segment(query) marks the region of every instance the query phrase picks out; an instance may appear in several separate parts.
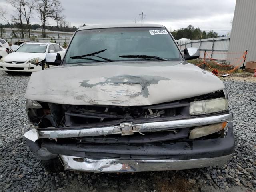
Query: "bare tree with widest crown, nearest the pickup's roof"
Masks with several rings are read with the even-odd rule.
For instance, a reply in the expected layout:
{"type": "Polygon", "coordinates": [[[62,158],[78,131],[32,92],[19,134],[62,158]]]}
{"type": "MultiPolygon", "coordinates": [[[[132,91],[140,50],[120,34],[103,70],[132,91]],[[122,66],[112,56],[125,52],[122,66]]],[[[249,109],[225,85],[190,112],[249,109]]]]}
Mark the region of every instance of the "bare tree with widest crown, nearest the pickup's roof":
{"type": "Polygon", "coordinates": [[[57,21],[62,20],[63,16],[61,16],[61,12],[63,8],[59,0],[41,0],[37,5],[36,10],[39,13],[39,18],[42,23],[42,36],[43,38],[46,38],[46,21],[49,18],[53,18],[57,21]]]}

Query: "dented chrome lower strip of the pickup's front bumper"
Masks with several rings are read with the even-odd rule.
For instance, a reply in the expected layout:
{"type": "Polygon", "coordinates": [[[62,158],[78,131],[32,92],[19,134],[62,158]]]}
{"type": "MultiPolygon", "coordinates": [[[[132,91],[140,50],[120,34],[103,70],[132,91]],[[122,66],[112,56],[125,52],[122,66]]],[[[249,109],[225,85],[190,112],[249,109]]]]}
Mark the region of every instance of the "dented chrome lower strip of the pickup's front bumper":
{"type": "Polygon", "coordinates": [[[140,172],[166,171],[223,166],[232,154],[214,158],[189,160],[158,160],[158,159],[90,159],[60,155],[65,170],[85,172],[140,172]]]}

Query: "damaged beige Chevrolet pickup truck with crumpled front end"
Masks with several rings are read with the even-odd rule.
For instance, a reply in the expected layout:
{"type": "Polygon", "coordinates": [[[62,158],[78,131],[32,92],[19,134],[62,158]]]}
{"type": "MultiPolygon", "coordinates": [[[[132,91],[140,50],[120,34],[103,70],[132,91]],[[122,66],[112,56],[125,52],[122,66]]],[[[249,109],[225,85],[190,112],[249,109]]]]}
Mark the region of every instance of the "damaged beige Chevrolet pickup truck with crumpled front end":
{"type": "MultiPolygon", "coordinates": [[[[161,25],[79,28],[26,90],[24,134],[50,171],[138,172],[226,164],[233,114],[214,74],[161,25]]],[[[40,61],[38,61],[40,62],[40,61]]],[[[38,63],[34,63],[38,64],[38,63]]]]}

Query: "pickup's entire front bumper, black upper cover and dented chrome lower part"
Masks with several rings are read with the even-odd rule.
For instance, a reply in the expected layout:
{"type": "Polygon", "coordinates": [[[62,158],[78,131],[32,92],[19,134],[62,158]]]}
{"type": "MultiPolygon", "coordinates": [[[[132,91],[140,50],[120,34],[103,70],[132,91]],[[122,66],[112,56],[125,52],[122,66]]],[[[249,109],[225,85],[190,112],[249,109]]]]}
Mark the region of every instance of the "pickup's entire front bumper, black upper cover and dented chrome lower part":
{"type": "Polygon", "coordinates": [[[66,170],[85,172],[163,171],[222,166],[234,152],[232,122],[224,138],[159,144],[74,144],[54,140],[33,142],[37,131],[24,136],[39,160],[60,157],[66,170]],[[165,156],[165,157],[163,157],[165,156]]]}

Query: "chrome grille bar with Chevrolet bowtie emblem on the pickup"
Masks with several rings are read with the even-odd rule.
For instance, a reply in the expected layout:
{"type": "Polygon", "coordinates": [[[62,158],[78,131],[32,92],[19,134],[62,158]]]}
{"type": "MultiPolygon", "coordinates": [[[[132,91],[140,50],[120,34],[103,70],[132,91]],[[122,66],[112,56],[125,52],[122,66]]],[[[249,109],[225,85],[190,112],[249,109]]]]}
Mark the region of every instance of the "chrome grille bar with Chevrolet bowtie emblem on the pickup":
{"type": "Polygon", "coordinates": [[[44,130],[38,131],[38,135],[34,134],[34,140],[38,138],[71,138],[71,137],[100,136],[100,135],[111,135],[111,134],[127,135],[127,134],[133,134],[134,132],[152,132],[152,131],[172,130],[172,129],[186,128],[186,127],[204,126],[209,124],[230,121],[232,118],[233,118],[233,114],[229,113],[224,115],[195,117],[195,118],[188,118],[188,119],[182,119],[182,120],[150,122],[150,123],[143,123],[143,124],[132,124],[132,123],[122,124],[121,123],[120,126],[108,126],[108,127],[95,127],[95,128],[66,127],[66,128],[59,128],[59,129],[54,127],[49,127],[44,130]]]}

